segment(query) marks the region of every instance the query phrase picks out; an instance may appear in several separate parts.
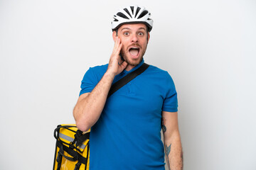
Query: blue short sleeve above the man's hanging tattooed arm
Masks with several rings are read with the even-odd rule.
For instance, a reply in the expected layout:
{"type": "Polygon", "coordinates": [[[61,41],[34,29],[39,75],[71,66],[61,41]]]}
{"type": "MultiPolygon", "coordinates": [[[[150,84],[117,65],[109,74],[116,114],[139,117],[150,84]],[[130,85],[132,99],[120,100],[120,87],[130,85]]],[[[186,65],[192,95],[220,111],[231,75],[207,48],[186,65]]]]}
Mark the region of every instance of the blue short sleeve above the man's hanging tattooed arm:
{"type": "Polygon", "coordinates": [[[166,74],[166,97],[164,98],[164,104],[162,111],[176,112],[178,111],[178,98],[175,89],[174,81],[171,76],[166,74]]]}

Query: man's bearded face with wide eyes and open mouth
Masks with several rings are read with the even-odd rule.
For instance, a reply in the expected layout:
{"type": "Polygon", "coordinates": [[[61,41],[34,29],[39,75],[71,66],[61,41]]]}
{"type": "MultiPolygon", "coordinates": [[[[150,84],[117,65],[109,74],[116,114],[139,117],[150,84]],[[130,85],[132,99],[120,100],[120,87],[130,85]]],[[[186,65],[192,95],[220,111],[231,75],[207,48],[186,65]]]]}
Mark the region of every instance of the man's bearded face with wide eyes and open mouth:
{"type": "Polygon", "coordinates": [[[131,66],[142,62],[146,46],[149,40],[149,33],[143,23],[125,24],[118,29],[117,36],[122,43],[121,55],[131,66]]]}

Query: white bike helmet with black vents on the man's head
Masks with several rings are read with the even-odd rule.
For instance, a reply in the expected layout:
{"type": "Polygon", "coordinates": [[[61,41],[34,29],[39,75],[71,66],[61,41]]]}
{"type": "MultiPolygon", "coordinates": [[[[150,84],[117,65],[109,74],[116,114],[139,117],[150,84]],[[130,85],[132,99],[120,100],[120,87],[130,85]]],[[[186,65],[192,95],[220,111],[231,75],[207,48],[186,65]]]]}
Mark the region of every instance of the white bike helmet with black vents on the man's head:
{"type": "Polygon", "coordinates": [[[144,7],[127,6],[114,14],[114,21],[111,22],[112,30],[116,30],[123,24],[144,23],[150,32],[153,27],[153,20],[149,18],[151,13],[144,7]]]}

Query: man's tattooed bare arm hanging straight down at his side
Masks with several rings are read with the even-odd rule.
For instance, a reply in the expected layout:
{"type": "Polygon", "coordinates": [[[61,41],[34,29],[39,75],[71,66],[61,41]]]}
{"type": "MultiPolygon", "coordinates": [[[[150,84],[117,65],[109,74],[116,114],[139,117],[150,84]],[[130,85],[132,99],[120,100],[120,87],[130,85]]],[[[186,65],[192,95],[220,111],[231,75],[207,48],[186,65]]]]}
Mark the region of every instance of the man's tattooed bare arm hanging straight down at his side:
{"type": "Polygon", "coordinates": [[[183,169],[183,152],[178,132],[178,113],[163,111],[162,128],[167,165],[171,170],[181,170],[183,169]]]}

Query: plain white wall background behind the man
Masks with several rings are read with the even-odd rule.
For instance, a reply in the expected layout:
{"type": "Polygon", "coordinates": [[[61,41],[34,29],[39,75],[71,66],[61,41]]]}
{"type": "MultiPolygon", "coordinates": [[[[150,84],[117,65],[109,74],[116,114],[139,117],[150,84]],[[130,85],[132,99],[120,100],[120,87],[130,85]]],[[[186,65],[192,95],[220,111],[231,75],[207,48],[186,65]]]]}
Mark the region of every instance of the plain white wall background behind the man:
{"type": "MultiPolygon", "coordinates": [[[[154,19],[145,62],[178,91],[184,169],[256,169],[256,2],[132,1],[154,19]]],[[[127,3],[0,1],[0,169],[52,169],[60,123],[89,67],[106,64],[127,3]]]]}

